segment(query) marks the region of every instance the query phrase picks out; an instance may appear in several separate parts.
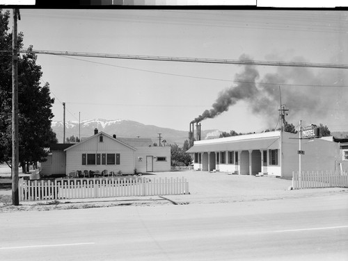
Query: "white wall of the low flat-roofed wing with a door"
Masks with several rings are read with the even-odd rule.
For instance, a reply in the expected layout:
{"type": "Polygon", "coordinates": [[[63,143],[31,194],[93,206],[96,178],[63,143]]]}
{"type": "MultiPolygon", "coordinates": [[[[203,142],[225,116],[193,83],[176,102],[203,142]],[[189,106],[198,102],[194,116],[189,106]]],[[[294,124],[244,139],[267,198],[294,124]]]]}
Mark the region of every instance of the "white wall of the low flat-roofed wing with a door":
{"type": "Polygon", "coordinates": [[[170,146],[141,146],[136,147],[135,167],[138,172],[146,171],[146,156],[166,157],[166,161],[157,161],[154,158],[153,171],[171,171],[171,147],[170,146]]]}

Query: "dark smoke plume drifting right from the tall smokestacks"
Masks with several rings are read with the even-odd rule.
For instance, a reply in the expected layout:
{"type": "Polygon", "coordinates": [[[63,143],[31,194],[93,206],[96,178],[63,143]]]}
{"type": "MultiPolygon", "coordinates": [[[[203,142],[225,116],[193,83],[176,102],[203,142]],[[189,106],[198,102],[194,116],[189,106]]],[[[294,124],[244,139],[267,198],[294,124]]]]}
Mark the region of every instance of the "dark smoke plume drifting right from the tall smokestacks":
{"type": "MultiPolygon", "coordinates": [[[[242,55],[240,60],[252,60],[242,55]]],[[[277,60],[282,60],[278,57],[277,60]]],[[[308,62],[301,57],[295,57],[292,62],[308,62]]],[[[337,69],[336,69],[337,70],[337,69]]],[[[219,93],[218,98],[210,110],[205,110],[191,122],[214,118],[226,112],[238,101],[246,101],[249,109],[255,115],[262,115],[269,126],[278,120],[280,107],[281,87],[282,104],[289,108],[289,119],[298,121],[322,120],[333,117],[332,110],[326,109],[329,105],[347,106],[347,92],[342,97],[342,87],[322,87],[335,85],[345,78],[332,69],[315,69],[306,67],[277,67],[275,73],[264,74],[260,79],[258,69],[253,65],[243,65],[241,73],[235,75],[235,84],[219,93]],[[335,74],[336,72],[336,74],[335,74]],[[333,89],[335,92],[333,92],[333,89]],[[340,102],[342,100],[342,102],[340,102]]],[[[340,83],[342,85],[342,82],[340,83]]],[[[341,108],[342,109],[342,108],[341,108]]],[[[346,109],[346,108],[345,108],[346,109]]],[[[315,123],[315,122],[313,122],[315,123]]]]}

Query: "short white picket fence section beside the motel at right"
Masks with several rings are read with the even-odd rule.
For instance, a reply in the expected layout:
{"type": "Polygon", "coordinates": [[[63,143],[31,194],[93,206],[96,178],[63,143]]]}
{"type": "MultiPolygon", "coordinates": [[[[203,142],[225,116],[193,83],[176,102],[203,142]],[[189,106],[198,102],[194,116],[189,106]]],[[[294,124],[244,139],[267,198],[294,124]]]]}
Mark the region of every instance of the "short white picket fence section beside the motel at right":
{"type": "Polygon", "coordinates": [[[348,187],[347,172],[332,173],[331,171],[299,171],[292,172],[292,188],[294,190],[315,187],[348,187]]]}

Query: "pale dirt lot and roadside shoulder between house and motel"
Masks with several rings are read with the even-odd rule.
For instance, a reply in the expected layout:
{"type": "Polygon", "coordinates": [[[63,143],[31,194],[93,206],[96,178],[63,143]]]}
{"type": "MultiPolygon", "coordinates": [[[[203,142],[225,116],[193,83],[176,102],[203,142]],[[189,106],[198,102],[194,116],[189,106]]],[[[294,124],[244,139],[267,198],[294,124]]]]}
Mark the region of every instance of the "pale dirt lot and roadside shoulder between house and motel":
{"type": "MultiPolygon", "coordinates": [[[[152,176],[152,175],[151,175],[152,176]]],[[[151,177],[149,176],[149,177],[151,177]]],[[[237,176],[223,172],[172,171],[155,173],[152,177],[184,177],[189,181],[188,195],[132,196],[107,199],[74,199],[64,201],[23,202],[11,205],[10,187],[0,180],[0,212],[26,210],[61,210],[102,208],[120,205],[155,206],[163,204],[231,203],[238,201],[266,201],[347,193],[347,188],[289,190],[291,180],[273,177],[237,176]]],[[[10,181],[10,180],[8,180],[10,181]]]]}

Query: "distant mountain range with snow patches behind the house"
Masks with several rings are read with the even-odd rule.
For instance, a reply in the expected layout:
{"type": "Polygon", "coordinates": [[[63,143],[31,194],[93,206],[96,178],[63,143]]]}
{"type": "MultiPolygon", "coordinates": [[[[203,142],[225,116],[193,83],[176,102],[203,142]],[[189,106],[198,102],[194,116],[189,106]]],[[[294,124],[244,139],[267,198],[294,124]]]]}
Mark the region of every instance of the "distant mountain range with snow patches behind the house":
{"type": "MultiPolygon", "coordinates": [[[[161,141],[166,140],[167,144],[177,144],[182,146],[185,140],[189,140],[189,130],[174,130],[172,128],[161,128],[154,125],[145,125],[137,121],[127,119],[88,119],[81,121],[65,122],[65,139],[67,137],[79,137],[81,140],[94,135],[94,130],[103,131],[109,135],[116,137],[147,137],[152,142],[159,143],[159,133],[161,133],[161,141]]],[[[63,142],[63,121],[52,121],[52,129],[56,133],[58,142],[63,142]]],[[[202,130],[201,137],[203,140],[219,137],[220,130],[202,130]]]]}

